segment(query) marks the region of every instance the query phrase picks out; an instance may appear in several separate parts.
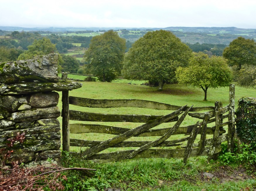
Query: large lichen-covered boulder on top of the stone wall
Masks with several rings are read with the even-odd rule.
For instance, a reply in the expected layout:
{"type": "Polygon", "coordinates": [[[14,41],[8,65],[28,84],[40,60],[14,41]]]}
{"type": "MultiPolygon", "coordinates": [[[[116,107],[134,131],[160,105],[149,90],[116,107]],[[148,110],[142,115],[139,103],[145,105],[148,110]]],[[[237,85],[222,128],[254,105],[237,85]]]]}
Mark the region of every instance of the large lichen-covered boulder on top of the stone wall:
{"type": "Polygon", "coordinates": [[[57,82],[58,58],[59,55],[57,53],[52,53],[36,56],[29,60],[4,62],[0,65],[0,82],[4,84],[34,80],[57,82]]]}

